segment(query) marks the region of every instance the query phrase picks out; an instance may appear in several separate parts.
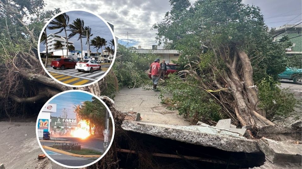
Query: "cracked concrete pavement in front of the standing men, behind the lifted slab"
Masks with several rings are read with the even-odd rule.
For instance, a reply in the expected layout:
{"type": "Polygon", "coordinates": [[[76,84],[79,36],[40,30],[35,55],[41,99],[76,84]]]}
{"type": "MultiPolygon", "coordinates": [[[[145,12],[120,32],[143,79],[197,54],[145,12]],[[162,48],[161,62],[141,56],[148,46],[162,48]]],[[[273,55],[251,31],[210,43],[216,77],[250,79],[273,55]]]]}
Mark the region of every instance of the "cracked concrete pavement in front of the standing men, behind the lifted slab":
{"type": "Polygon", "coordinates": [[[189,121],[160,103],[159,92],[144,90],[143,87],[124,87],[115,94],[115,109],[121,112],[134,111],[141,114],[143,122],[189,125],[189,121]]]}

